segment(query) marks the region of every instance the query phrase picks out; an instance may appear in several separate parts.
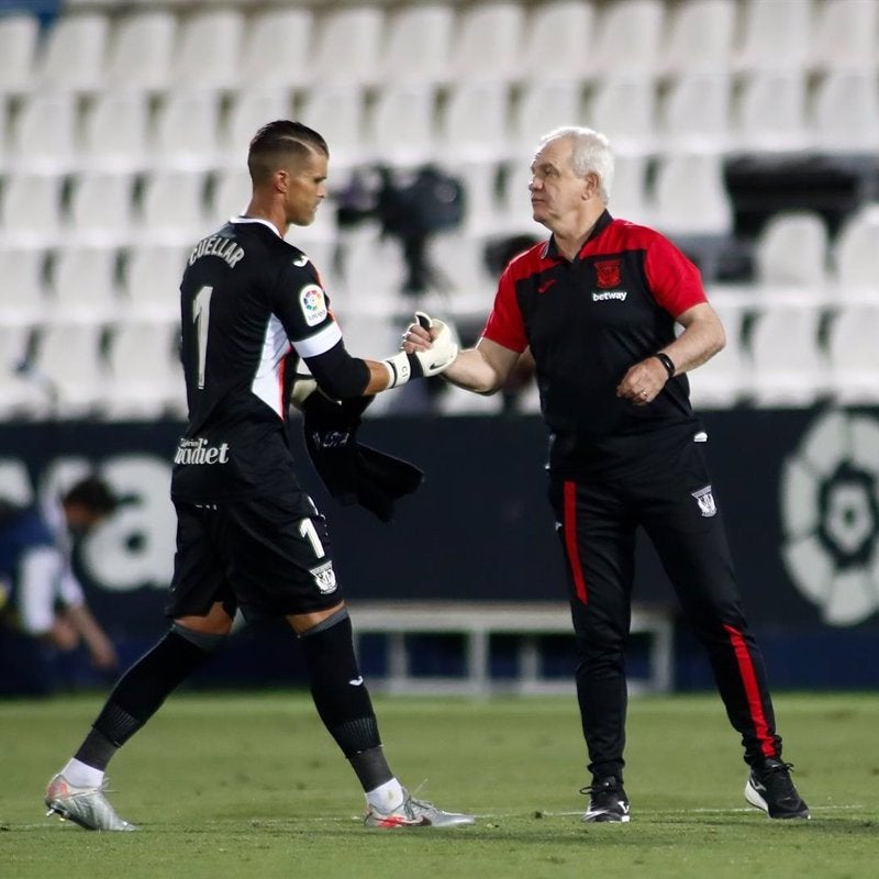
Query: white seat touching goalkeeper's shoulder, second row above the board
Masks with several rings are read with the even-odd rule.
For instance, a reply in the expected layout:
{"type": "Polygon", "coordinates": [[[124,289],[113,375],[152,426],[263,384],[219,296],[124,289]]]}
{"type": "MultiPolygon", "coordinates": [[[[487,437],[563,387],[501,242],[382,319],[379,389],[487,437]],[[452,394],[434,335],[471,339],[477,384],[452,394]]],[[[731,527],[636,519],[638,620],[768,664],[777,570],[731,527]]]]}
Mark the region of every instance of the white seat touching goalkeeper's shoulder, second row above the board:
{"type": "Polygon", "coordinates": [[[126,253],[122,268],[123,313],[133,321],[180,319],[180,278],[192,245],[141,244],[126,253]]]}

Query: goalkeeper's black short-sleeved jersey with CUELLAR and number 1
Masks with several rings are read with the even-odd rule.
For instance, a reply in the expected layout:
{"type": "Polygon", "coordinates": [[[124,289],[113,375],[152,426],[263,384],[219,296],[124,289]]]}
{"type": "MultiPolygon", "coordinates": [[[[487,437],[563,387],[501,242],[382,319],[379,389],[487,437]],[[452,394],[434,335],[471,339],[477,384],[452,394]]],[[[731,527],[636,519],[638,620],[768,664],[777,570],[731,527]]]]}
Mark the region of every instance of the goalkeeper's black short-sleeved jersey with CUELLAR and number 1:
{"type": "Polygon", "coordinates": [[[171,496],[299,489],[287,434],[296,366],[342,340],[318,270],[267,221],[233,218],[192,249],[180,311],[189,423],[171,496]]]}

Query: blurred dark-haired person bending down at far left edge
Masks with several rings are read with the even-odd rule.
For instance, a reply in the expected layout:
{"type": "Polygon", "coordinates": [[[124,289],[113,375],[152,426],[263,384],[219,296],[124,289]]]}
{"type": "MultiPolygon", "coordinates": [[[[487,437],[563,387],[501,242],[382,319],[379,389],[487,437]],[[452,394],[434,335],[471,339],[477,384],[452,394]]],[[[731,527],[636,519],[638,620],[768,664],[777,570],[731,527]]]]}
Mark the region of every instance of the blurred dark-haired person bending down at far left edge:
{"type": "Polygon", "coordinates": [[[96,476],[43,505],[0,500],[0,692],[52,692],[80,643],[96,669],[116,668],[113,644],[73,568],[75,541],[115,507],[112,491],[96,476]]]}

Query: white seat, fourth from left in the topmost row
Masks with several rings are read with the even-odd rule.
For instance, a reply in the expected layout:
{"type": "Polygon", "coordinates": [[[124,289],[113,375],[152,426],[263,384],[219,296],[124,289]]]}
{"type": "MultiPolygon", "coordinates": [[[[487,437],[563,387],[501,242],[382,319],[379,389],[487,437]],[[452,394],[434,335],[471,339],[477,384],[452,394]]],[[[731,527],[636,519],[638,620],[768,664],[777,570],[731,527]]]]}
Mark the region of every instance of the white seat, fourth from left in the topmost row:
{"type": "MultiPolygon", "coordinates": [[[[234,7],[196,9],[179,21],[171,86],[229,89],[241,82],[244,13],[234,7]]],[[[283,56],[276,62],[282,64],[283,56]]]]}

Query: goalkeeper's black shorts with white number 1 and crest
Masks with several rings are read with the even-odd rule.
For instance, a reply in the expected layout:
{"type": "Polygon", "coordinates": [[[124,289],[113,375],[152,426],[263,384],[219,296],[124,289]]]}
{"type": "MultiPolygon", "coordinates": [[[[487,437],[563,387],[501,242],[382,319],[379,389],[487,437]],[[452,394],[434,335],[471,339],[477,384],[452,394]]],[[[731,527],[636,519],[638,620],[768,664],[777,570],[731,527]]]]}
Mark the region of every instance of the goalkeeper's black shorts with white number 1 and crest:
{"type": "Polygon", "coordinates": [[[175,507],[168,616],[202,616],[220,601],[230,615],[240,608],[254,620],[342,600],[326,523],[307,494],[175,507]]]}

